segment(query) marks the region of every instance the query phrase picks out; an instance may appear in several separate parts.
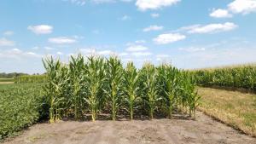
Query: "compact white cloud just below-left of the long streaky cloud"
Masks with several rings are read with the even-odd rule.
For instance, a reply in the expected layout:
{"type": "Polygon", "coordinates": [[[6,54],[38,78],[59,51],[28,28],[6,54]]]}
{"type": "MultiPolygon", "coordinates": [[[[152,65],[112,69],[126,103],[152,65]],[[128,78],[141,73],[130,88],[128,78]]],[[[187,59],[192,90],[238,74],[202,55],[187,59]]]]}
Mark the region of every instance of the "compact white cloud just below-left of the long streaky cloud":
{"type": "Polygon", "coordinates": [[[160,34],[158,37],[153,39],[154,43],[157,44],[167,44],[167,43],[174,43],[180,40],[185,39],[186,36],[179,34],[179,33],[166,33],[160,34]]]}

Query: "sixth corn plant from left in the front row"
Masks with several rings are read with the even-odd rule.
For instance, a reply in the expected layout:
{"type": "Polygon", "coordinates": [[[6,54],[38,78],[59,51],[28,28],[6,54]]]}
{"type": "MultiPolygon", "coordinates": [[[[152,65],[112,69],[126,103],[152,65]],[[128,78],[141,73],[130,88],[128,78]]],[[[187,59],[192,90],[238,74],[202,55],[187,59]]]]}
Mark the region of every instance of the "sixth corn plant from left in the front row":
{"type": "Polygon", "coordinates": [[[152,64],[145,64],[142,70],[143,85],[145,90],[145,101],[148,105],[149,117],[154,117],[154,111],[157,108],[156,103],[160,100],[157,90],[157,72],[152,64]]]}

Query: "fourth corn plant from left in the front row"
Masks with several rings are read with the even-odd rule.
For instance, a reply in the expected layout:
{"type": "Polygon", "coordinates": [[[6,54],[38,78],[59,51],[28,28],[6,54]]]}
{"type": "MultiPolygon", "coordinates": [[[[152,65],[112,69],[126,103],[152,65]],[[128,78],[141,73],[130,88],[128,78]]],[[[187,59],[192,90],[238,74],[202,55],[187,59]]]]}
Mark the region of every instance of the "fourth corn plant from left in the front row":
{"type": "Polygon", "coordinates": [[[110,57],[107,69],[108,88],[105,89],[112,109],[112,119],[116,119],[123,88],[123,66],[117,57],[110,57]]]}

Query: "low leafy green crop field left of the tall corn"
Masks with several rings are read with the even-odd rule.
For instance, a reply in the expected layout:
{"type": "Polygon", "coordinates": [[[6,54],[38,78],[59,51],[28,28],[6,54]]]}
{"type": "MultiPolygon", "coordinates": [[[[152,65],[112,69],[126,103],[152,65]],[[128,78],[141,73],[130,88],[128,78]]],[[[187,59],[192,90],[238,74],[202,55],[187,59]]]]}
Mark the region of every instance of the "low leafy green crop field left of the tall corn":
{"type": "Polygon", "coordinates": [[[42,84],[0,85],[0,140],[44,116],[42,84]]]}

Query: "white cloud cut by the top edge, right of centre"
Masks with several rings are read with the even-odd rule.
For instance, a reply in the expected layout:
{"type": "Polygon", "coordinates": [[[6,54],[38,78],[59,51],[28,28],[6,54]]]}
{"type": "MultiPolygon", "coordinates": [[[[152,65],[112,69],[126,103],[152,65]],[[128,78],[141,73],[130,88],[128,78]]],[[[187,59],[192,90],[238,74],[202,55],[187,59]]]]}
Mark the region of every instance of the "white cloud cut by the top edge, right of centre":
{"type": "Polygon", "coordinates": [[[136,6],[140,10],[160,9],[162,7],[171,6],[180,0],[137,0],[136,6]]]}

